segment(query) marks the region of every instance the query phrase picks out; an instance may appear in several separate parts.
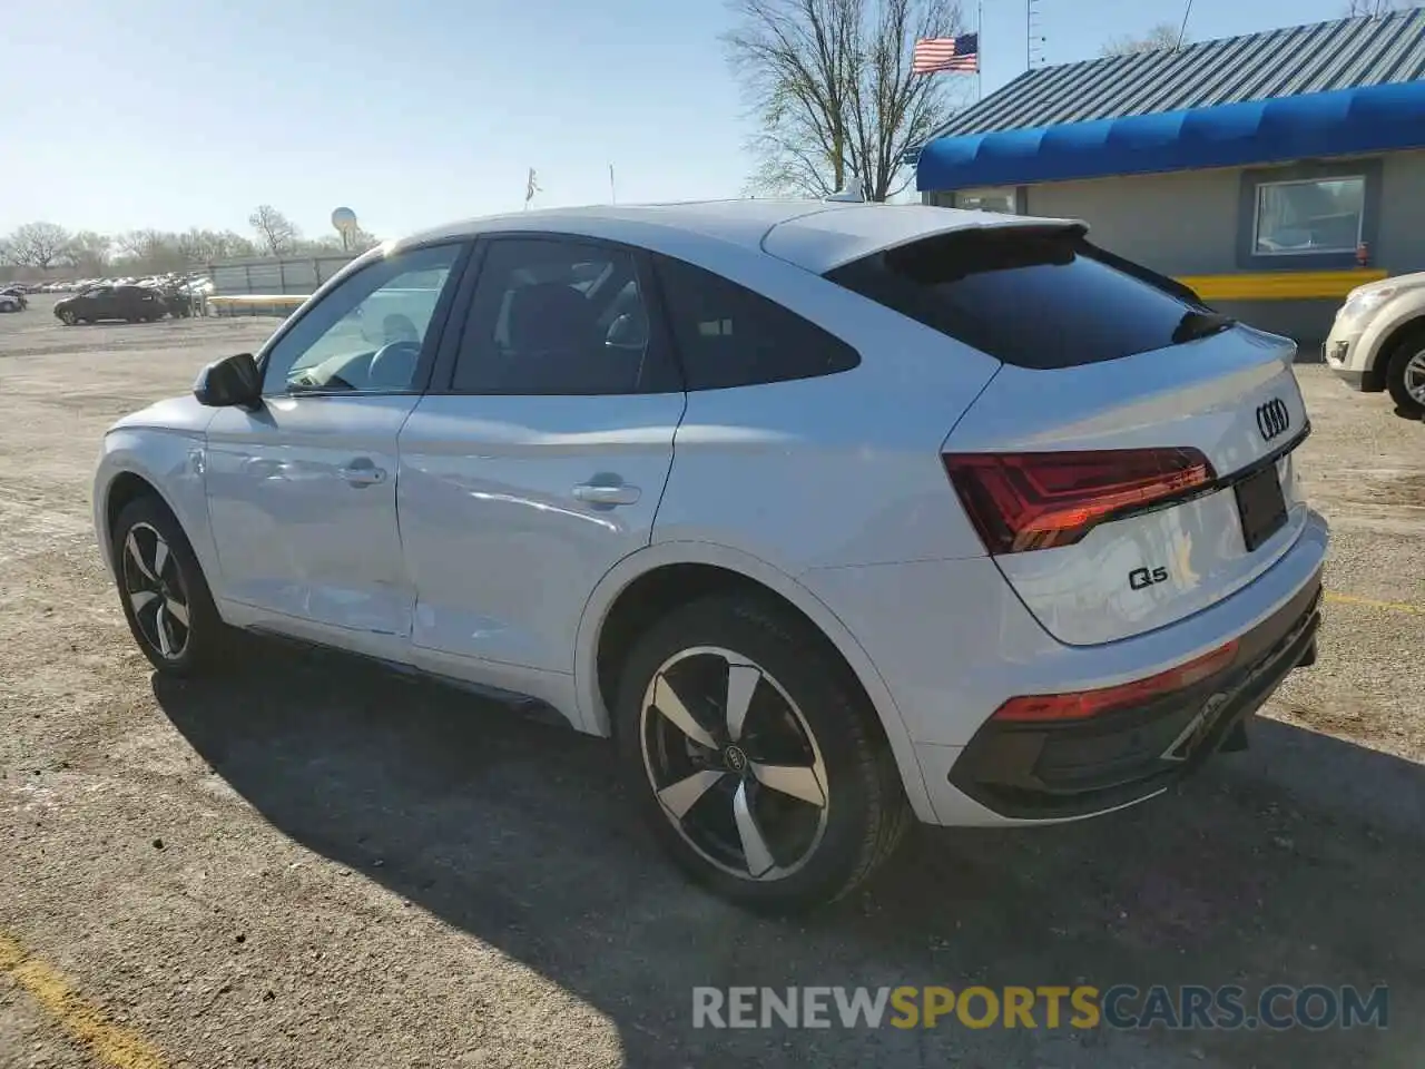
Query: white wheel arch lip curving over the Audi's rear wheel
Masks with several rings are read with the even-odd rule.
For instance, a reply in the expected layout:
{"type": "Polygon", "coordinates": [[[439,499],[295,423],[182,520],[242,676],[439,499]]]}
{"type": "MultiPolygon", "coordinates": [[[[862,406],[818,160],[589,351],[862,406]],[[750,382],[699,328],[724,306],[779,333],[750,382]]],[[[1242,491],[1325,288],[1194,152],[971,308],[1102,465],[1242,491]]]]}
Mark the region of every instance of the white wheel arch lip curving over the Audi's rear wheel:
{"type": "Polygon", "coordinates": [[[728,586],[744,586],[781,603],[814,627],[861,686],[876,713],[906,798],[922,821],[933,821],[929,794],[891,690],[871,657],[836,614],[792,576],[750,553],[704,542],[648,546],[616,564],[594,587],[574,644],[579,727],[610,735],[608,694],[621,654],[661,611],[728,586]]]}

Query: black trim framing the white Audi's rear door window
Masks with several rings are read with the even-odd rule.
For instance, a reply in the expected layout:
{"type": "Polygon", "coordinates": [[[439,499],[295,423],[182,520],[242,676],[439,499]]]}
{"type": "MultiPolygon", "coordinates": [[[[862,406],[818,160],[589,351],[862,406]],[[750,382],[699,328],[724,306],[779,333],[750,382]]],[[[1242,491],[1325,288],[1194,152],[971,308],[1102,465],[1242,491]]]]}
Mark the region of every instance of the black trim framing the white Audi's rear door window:
{"type": "Polygon", "coordinates": [[[641,396],[663,396],[668,393],[683,393],[685,389],[687,378],[683,373],[681,358],[677,351],[677,344],[674,341],[673,331],[668,326],[667,315],[663,308],[663,294],[658,289],[657,272],[653,269],[653,262],[650,259],[648,249],[640,245],[630,245],[624,241],[613,241],[610,238],[591,237],[587,234],[569,234],[563,231],[522,231],[522,229],[500,229],[500,231],[483,231],[475,238],[475,251],[470,255],[470,264],[460,279],[460,289],[457,294],[457,308],[459,311],[452,315],[450,322],[446,324],[447,329],[442,336],[440,349],[436,353],[433,373],[430,376],[430,386],[426,391],[432,396],[452,396],[452,398],[641,398],[641,396]],[[661,351],[665,353],[668,361],[670,373],[670,388],[663,391],[637,391],[626,393],[567,393],[567,392],[542,392],[542,393],[509,393],[509,392],[490,392],[479,389],[457,389],[455,385],[456,363],[460,359],[460,352],[465,348],[466,334],[472,329],[475,321],[475,294],[480,284],[480,278],[484,274],[484,265],[490,255],[490,248],[496,242],[503,241],[546,241],[556,242],[561,245],[586,245],[593,248],[603,248],[611,252],[623,252],[633,258],[634,272],[638,278],[638,291],[643,294],[646,311],[648,312],[648,345],[654,352],[661,351]]]}

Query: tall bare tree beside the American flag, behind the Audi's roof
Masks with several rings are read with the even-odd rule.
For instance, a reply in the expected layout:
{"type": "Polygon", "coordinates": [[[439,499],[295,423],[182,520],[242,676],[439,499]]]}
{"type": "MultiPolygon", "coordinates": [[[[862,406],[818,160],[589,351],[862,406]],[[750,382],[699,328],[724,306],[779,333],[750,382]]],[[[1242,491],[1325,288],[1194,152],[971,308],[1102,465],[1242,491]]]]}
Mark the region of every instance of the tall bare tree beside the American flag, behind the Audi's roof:
{"type": "Polygon", "coordinates": [[[911,73],[919,37],[952,37],[955,0],[728,0],[724,36],[758,133],[750,185],[826,197],[859,180],[868,200],[905,188],[901,160],[952,111],[949,76],[911,73]]]}

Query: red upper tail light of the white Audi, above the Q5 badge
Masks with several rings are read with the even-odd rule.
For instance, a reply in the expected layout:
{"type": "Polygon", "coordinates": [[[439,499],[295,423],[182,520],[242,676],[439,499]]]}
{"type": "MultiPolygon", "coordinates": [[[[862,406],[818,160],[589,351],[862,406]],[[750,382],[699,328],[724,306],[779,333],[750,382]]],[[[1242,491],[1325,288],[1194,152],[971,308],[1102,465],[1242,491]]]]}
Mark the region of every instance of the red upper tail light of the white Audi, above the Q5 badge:
{"type": "Polygon", "coordinates": [[[1096,523],[1210,486],[1197,449],[946,453],[950,483],[992,556],[1079,542],[1096,523]]]}

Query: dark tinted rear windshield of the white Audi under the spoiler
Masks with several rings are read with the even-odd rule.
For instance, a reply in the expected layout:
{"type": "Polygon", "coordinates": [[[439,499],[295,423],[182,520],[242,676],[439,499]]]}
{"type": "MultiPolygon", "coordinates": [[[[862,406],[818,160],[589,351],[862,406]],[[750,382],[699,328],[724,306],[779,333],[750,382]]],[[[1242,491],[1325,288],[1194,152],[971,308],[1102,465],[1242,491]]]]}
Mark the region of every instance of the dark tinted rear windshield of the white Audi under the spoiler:
{"type": "Polygon", "coordinates": [[[943,234],[826,275],[1020,368],[1072,368],[1174,344],[1203,305],[1186,286],[1096,249],[1080,228],[943,234]]]}

